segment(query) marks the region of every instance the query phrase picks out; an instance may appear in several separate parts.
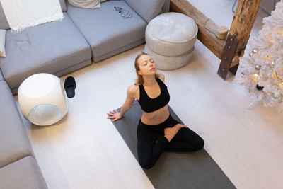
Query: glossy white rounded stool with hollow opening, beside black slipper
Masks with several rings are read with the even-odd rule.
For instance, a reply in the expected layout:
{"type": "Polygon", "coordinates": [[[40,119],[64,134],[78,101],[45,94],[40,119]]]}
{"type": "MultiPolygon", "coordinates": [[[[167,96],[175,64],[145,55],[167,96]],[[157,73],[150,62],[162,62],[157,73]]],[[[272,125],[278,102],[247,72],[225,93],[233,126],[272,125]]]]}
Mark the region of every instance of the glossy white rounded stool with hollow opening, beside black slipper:
{"type": "Polygon", "coordinates": [[[35,125],[52,125],[68,111],[62,81],[52,74],[25,79],[18,88],[18,103],[25,118],[35,125]]]}

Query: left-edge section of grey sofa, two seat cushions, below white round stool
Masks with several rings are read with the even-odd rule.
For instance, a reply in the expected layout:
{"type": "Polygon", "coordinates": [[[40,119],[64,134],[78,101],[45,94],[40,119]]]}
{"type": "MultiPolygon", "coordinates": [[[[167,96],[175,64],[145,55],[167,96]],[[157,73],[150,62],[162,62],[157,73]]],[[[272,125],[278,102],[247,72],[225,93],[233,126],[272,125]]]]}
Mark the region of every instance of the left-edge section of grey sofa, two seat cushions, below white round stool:
{"type": "Polygon", "coordinates": [[[10,88],[0,73],[0,188],[47,188],[10,88]]]}

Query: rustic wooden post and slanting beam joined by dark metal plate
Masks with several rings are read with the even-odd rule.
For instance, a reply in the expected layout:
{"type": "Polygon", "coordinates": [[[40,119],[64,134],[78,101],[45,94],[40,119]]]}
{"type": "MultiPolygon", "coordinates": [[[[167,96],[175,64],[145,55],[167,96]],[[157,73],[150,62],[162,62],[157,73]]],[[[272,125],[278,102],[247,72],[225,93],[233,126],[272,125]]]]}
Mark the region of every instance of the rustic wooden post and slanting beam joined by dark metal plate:
{"type": "Polygon", "coordinates": [[[250,31],[253,28],[253,23],[260,8],[260,3],[261,0],[238,1],[226,44],[225,40],[216,37],[219,27],[187,0],[171,0],[170,8],[171,11],[184,13],[190,16],[190,18],[195,19],[199,28],[197,39],[213,52],[216,57],[221,59],[217,73],[221,78],[226,79],[228,71],[236,74],[238,57],[243,56],[245,52],[248,39],[250,38],[250,31]]]}

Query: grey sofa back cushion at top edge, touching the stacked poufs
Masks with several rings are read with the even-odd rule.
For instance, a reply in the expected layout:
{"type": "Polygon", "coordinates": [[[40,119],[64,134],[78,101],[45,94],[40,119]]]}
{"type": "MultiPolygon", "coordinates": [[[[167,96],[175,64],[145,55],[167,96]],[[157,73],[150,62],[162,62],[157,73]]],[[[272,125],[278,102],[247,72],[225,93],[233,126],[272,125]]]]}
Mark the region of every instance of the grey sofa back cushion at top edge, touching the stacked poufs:
{"type": "Polygon", "coordinates": [[[160,13],[165,0],[125,0],[136,13],[149,23],[160,13]]]}

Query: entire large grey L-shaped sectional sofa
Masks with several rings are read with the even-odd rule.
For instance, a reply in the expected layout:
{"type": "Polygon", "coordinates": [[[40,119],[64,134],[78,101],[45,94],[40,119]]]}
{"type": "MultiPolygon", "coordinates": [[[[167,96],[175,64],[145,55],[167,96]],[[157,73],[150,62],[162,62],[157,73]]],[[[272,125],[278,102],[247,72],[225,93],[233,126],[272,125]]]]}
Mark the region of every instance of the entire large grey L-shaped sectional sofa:
{"type": "Polygon", "coordinates": [[[147,23],[170,3],[105,1],[102,8],[84,9],[59,1],[63,21],[20,33],[9,30],[0,4],[0,29],[7,30],[6,58],[0,57],[0,188],[47,188],[13,99],[21,82],[40,72],[62,76],[141,45],[147,23]],[[124,18],[127,13],[132,16],[124,18]]]}

